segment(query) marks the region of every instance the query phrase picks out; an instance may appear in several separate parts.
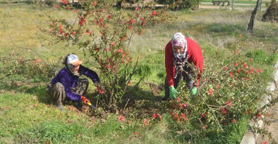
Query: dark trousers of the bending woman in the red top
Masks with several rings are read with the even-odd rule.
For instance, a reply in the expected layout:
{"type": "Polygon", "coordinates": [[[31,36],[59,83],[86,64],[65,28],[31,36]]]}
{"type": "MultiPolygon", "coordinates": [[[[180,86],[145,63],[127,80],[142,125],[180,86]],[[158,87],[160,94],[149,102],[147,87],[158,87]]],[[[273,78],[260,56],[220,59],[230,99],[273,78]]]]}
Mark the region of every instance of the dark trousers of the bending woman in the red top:
{"type": "MultiPolygon", "coordinates": [[[[194,83],[194,81],[192,80],[193,76],[194,76],[193,68],[185,64],[183,66],[183,71],[178,72],[177,77],[174,78],[174,87],[175,88],[178,87],[179,81],[183,77],[183,80],[186,81],[186,87],[190,91],[194,83]]],[[[165,98],[170,98],[170,90],[169,90],[167,75],[165,77],[165,82],[164,82],[164,93],[165,93],[165,98]]]]}

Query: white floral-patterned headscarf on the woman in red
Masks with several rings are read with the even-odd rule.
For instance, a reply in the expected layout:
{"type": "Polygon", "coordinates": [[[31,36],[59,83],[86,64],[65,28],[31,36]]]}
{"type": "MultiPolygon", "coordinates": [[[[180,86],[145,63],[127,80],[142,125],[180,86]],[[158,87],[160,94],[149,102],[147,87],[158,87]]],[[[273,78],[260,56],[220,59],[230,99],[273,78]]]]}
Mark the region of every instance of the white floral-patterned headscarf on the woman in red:
{"type": "Polygon", "coordinates": [[[174,52],[174,59],[178,62],[184,62],[187,57],[187,42],[185,36],[181,32],[176,32],[171,38],[172,48],[174,52]],[[184,48],[183,52],[176,53],[174,46],[181,46],[184,48]]]}

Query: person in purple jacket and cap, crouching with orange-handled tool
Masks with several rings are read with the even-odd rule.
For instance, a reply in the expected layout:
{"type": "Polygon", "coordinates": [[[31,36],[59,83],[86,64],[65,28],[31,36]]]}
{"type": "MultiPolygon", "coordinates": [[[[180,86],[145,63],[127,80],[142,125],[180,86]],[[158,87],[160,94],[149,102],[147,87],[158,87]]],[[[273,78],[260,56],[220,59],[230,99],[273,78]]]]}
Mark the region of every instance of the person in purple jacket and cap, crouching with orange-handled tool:
{"type": "MultiPolygon", "coordinates": [[[[67,98],[74,103],[82,100],[85,104],[90,102],[86,96],[89,81],[86,78],[79,78],[85,75],[93,80],[94,83],[100,82],[98,74],[81,65],[83,61],[76,54],[69,54],[65,57],[62,68],[58,74],[47,85],[47,92],[51,96],[52,101],[60,110],[64,110],[63,101],[67,98]]],[[[98,86],[97,86],[98,87],[98,86]]],[[[99,87],[98,87],[99,89],[99,87]]]]}

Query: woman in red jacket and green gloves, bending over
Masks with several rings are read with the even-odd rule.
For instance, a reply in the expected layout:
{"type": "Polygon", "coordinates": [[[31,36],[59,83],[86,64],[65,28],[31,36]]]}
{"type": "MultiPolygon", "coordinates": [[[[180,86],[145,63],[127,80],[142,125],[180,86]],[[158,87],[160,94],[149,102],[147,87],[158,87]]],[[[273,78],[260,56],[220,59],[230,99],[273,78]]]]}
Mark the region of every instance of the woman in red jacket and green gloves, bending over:
{"type": "Polygon", "coordinates": [[[199,44],[185,37],[181,32],[176,32],[165,47],[165,97],[162,100],[176,99],[176,90],[181,78],[186,81],[186,86],[192,95],[197,93],[203,68],[203,55],[199,44]],[[197,73],[197,81],[193,80],[195,73],[188,65],[193,63],[197,73]]]}

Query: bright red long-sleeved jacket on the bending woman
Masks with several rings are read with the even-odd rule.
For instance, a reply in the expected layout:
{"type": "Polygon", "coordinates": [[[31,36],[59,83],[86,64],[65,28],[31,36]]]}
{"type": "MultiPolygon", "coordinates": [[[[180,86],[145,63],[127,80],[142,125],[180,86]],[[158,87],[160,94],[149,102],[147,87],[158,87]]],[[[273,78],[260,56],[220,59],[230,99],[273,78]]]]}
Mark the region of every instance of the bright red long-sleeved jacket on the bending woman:
{"type": "MultiPolygon", "coordinates": [[[[187,41],[187,55],[188,55],[187,61],[189,63],[193,63],[194,65],[196,65],[196,69],[199,69],[199,73],[197,74],[197,84],[199,85],[201,72],[203,69],[202,51],[199,44],[196,41],[188,37],[186,37],[186,41],[187,41]]],[[[173,53],[171,41],[169,41],[165,47],[165,67],[166,67],[168,85],[173,86],[175,67],[174,67],[174,53],[173,53]]],[[[197,84],[194,83],[194,86],[197,86],[197,84]]]]}

